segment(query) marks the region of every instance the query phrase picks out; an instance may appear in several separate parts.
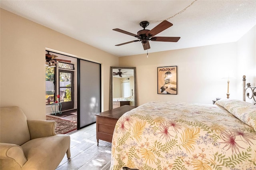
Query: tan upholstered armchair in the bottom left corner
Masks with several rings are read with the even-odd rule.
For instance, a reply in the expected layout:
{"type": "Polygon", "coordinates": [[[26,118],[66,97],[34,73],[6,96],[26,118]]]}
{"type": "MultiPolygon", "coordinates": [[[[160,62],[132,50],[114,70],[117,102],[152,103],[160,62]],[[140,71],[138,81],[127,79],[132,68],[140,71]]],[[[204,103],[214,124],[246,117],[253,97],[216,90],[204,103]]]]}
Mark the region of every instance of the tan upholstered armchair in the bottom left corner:
{"type": "Polygon", "coordinates": [[[0,123],[1,170],[54,170],[70,158],[70,136],[56,134],[55,121],[27,120],[15,106],[1,108],[0,123]]]}

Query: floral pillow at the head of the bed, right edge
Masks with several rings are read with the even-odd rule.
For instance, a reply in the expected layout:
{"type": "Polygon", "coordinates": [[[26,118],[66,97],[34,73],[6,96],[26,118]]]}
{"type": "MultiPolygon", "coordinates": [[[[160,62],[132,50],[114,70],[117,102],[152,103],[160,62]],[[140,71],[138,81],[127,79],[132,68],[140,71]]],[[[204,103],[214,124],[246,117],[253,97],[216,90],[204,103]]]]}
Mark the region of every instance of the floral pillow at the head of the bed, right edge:
{"type": "Polygon", "coordinates": [[[254,128],[256,132],[256,105],[241,100],[230,99],[218,100],[215,104],[224,107],[229,113],[254,128]]]}

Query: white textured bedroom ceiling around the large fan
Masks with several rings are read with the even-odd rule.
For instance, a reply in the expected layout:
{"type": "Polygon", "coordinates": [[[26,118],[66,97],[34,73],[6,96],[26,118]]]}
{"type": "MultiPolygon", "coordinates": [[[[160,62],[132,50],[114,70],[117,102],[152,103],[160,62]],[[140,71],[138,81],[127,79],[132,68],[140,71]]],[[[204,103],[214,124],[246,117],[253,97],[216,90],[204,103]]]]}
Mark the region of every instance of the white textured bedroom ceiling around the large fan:
{"type": "MultiPolygon", "coordinates": [[[[151,30],[194,0],[1,0],[0,7],[116,56],[146,53],[141,42],[113,31],[137,34],[141,21],[151,30]]],[[[168,20],[157,36],[181,37],[176,43],[152,42],[148,53],[236,42],[256,25],[256,0],[197,0],[168,20]]],[[[66,51],[63,51],[66,52],[66,51]]]]}

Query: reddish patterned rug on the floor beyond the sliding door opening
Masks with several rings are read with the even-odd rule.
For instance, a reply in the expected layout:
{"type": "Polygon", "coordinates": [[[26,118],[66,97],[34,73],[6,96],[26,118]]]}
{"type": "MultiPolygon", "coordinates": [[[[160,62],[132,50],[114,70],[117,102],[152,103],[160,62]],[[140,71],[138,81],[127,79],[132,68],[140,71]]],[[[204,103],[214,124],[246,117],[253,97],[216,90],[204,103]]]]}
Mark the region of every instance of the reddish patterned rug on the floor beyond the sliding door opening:
{"type": "Polygon", "coordinates": [[[71,121],[66,121],[63,119],[58,119],[55,117],[50,117],[46,115],[46,120],[56,121],[55,132],[57,134],[66,134],[77,129],[76,123],[71,121]]]}

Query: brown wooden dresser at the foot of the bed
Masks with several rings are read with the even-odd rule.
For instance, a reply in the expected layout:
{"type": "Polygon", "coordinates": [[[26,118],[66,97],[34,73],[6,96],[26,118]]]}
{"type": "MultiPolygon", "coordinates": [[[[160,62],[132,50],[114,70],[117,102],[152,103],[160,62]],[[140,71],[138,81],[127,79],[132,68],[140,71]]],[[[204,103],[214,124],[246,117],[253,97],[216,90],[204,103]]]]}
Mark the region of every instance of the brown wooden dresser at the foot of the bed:
{"type": "Polygon", "coordinates": [[[124,113],[136,108],[135,106],[124,105],[116,109],[104,111],[96,114],[96,139],[97,146],[99,139],[107,142],[112,142],[112,136],[116,122],[124,115],[124,113]]]}

